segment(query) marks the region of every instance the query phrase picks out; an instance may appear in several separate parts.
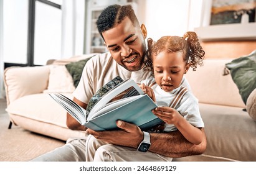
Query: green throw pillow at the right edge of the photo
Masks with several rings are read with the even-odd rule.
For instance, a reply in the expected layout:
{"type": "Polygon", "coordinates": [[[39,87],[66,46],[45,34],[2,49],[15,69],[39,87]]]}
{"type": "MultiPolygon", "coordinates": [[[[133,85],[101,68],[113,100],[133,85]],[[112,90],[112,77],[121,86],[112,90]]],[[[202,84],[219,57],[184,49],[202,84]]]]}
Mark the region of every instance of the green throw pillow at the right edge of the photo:
{"type": "Polygon", "coordinates": [[[250,55],[237,58],[225,64],[246,104],[250,93],[256,88],[256,50],[250,55]]]}

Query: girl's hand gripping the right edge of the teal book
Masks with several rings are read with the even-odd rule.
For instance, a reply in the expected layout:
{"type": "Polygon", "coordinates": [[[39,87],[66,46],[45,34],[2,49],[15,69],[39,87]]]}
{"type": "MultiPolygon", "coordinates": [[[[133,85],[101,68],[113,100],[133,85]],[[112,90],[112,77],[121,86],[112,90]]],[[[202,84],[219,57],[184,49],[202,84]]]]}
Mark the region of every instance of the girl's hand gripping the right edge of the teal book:
{"type": "Polygon", "coordinates": [[[154,115],[158,116],[159,119],[168,124],[177,125],[178,122],[183,119],[183,116],[181,116],[178,111],[167,106],[155,108],[152,110],[152,112],[154,115]]]}

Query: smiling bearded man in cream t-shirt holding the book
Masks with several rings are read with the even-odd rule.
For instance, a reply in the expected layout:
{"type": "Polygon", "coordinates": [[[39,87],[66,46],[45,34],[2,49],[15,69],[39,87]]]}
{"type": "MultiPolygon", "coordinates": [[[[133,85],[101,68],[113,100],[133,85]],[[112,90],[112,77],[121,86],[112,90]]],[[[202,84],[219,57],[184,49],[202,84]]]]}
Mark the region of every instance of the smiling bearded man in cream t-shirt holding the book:
{"type": "MultiPolygon", "coordinates": [[[[131,6],[109,6],[98,17],[98,31],[109,52],[91,58],[83,69],[82,78],[73,93],[73,101],[87,107],[87,103],[103,85],[120,76],[140,83],[151,74],[143,71],[146,52],[146,27],[138,22],[131,6]]],[[[189,87],[184,79],[182,84],[189,87]]],[[[171,161],[173,157],[197,155],[206,149],[206,137],[199,145],[184,139],[179,131],[168,133],[142,132],[134,124],[117,121],[120,131],[92,131],[81,126],[67,114],[67,126],[73,130],[86,131],[88,138],[70,140],[63,147],[46,153],[35,161],[171,161]],[[145,138],[146,137],[146,138],[145,138]],[[146,145],[142,147],[141,142],[146,145]],[[148,151],[146,153],[138,152],[148,151]],[[113,152],[118,153],[113,153],[113,152]],[[120,153],[119,153],[120,152],[120,153]],[[127,155],[128,154],[133,155],[127,155]],[[104,153],[104,155],[103,155],[104,153]]],[[[204,133],[204,129],[201,129],[204,133]]]]}

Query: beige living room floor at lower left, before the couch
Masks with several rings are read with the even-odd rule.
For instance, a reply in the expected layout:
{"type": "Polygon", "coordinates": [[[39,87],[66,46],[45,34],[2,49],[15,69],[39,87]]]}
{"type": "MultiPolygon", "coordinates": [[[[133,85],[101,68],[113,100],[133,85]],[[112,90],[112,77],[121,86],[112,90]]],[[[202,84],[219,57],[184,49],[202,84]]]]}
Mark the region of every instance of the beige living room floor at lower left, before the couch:
{"type": "Polygon", "coordinates": [[[8,129],[10,121],[5,109],[6,99],[0,99],[0,162],[26,162],[65,144],[14,124],[8,129]]]}

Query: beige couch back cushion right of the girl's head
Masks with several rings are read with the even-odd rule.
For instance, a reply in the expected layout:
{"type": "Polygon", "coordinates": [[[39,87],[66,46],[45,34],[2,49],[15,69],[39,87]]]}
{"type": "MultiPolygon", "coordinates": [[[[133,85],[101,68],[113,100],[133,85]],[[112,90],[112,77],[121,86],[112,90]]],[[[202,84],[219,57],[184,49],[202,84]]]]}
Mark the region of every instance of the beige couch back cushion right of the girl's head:
{"type": "Polygon", "coordinates": [[[225,63],[228,62],[230,60],[206,59],[204,65],[197,67],[196,71],[189,69],[186,78],[199,103],[245,108],[232,77],[222,75],[225,63]]]}

